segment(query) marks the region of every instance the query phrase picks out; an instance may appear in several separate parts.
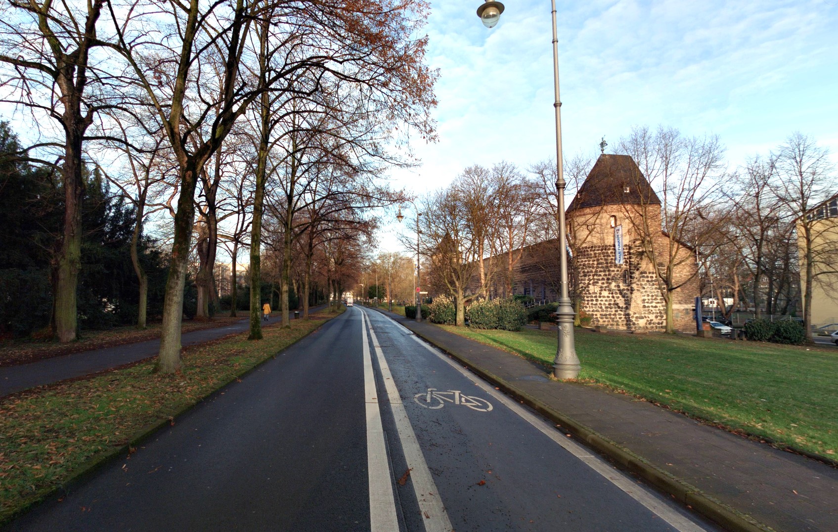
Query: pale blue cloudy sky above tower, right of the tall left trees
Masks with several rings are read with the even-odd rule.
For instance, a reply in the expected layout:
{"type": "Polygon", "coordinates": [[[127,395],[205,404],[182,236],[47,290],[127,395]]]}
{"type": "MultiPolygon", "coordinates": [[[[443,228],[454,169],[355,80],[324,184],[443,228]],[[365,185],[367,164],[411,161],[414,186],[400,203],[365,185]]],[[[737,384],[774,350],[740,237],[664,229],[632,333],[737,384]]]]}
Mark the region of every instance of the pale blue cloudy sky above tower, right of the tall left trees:
{"type": "MultiPolygon", "coordinates": [[[[394,170],[397,188],[424,194],[472,164],[556,157],[550,2],[510,0],[491,29],[480,3],[432,0],[439,140],[414,145],[422,167],[394,170]]],[[[556,11],[566,157],[663,125],[718,135],[731,169],[795,131],[838,162],[838,0],[558,0],[556,11]]],[[[399,251],[399,231],[385,226],[380,247],[399,251]]]]}

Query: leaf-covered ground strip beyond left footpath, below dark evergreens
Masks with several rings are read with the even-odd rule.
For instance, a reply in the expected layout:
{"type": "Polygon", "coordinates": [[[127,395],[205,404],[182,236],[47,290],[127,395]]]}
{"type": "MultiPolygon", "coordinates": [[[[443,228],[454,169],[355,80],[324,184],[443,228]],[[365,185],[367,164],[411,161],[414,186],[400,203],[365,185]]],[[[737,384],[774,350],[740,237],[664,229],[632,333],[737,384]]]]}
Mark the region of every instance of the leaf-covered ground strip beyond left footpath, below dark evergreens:
{"type": "MultiPolygon", "coordinates": [[[[191,333],[205,328],[223,327],[246,319],[248,315],[239,313],[238,318],[216,315],[212,321],[196,322],[184,320],[181,333],[191,333]]],[[[82,331],[81,338],[75,342],[58,343],[52,340],[22,338],[0,342],[0,366],[28,364],[36,360],[49,359],[63,354],[80,353],[91,349],[101,349],[124,343],[142,342],[160,338],[160,323],[149,323],[147,328],[138,329],[131,325],[115,327],[101,331],[82,331]]]]}

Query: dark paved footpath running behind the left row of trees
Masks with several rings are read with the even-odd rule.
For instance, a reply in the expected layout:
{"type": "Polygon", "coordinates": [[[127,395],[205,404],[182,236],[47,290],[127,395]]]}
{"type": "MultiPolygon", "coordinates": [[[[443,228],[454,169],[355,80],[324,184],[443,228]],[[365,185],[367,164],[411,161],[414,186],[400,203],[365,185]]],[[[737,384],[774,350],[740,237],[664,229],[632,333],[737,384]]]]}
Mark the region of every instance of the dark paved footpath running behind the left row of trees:
{"type": "MultiPolygon", "coordinates": [[[[317,312],[321,307],[313,307],[309,312],[317,312]]],[[[282,314],[275,313],[269,320],[277,323],[282,314]]],[[[228,323],[224,327],[205,328],[181,336],[180,344],[184,347],[195,343],[209,342],[223,336],[243,333],[250,328],[250,318],[228,323]]],[[[75,379],[86,374],[105,369],[116,368],[137,360],[147,359],[158,354],[160,339],[145,342],[127,343],[111,348],[92,349],[80,353],[65,354],[51,359],[39,360],[31,364],[19,364],[0,368],[0,397],[36,386],[51,385],[60,380],[75,379]]]]}

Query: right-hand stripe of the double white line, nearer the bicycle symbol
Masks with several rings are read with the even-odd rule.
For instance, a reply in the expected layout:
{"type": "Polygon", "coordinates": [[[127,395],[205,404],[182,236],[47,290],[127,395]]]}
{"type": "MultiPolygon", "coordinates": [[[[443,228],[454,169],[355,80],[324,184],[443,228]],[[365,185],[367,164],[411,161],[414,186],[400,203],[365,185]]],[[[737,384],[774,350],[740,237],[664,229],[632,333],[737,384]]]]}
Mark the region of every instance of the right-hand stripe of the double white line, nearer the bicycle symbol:
{"type": "MultiPolygon", "coordinates": [[[[370,323],[366,311],[363,312],[367,322],[370,323]]],[[[387,360],[381,351],[378,338],[375,337],[372,323],[370,323],[370,337],[381,370],[381,379],[384,380],[384,386],[387,390],[387,398],[390,400],[393,418],[396,420],[396,430],[399,433],[401,448],[405,452],[407,467],[411,470],[410,479],[413,484],[413,491],[416,493],[416,502],[419,503],[419,510],[422,512],[422,518],[424,518],[422,522],[425,524],[425,530],[427,532],[451,532],[453,529],[451,521],[442,505],[437,484],[433,482],[431,471],[427,468],[425,455],[422,454],[422,448],[419,447],[419,441],[416,440],[416,433],[413,431],[410,418],[407,417],[405,405],[401,402],[401,395],[396,387],[396,382],[393,380],[393,375],[390,373],[390,366],[387,365],[387,360]]]]}

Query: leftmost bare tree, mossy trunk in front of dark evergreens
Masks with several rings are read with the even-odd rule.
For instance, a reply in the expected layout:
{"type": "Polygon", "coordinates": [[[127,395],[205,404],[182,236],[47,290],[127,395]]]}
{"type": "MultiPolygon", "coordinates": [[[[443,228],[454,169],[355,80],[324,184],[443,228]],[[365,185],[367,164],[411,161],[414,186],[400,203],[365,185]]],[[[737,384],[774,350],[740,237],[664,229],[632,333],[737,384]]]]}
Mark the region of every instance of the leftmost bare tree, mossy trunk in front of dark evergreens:
{"type": "MultiPolygon", "coordinates": [[[[53,140],[28,149],[57,155],[65,194],[63,234],[54,254],[53,325],[59,342],[77,335],[76,287],[81,267],[81,212],[85,195],[82,160],[88,128],[112,101],[110,75],[101,70],[96,49],[103,40],[97,25],[104,0],[86,3],[13,1],[0,8],[0,65],[5,80],[0,101],[30,111],[35,128],[43,123],[53,140]],[[47,126],[54,121],[55,128],[47,126]]],[[[21,157],[27,158],[25,151],[21,157]]],[[[28,159],[32,160],[32,159],[28,159]]]]}

